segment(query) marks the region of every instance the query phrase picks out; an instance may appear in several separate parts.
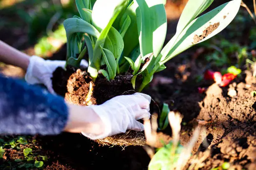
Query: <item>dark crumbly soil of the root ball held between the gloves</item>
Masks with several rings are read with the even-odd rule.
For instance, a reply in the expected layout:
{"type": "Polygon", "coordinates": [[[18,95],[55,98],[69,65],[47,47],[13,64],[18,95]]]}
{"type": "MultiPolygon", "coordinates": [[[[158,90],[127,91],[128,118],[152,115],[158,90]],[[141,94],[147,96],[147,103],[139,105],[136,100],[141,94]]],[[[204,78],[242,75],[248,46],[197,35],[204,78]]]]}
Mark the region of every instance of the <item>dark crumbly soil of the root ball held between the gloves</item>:
{"type": "Polygon", "coordinates": [[[99,74],[96,81],[93,82],[86,71],[74,67],[67,67],[65,71],[58,67],[53,74],[53,88],[57,94],[73,104],[88,105],[86,101],[87,94],[92,83],[91,104],[100,105],[118,95],[129,95],[136,91],[131,84],[131,73],[117,75],[114,80],[107,80],[99,74]]]}

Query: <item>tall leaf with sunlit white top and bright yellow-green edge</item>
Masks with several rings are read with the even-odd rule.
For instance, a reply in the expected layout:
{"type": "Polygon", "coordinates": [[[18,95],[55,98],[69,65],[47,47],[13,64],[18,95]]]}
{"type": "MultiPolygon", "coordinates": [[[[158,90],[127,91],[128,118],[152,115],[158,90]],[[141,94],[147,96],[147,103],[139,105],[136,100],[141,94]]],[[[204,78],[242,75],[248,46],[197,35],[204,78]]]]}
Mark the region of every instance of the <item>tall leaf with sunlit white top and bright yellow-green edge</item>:
{"type": "Polygon", "coordinates": [[[92,20],[102,31],[95,43],[92,61],[90,61],[88,67],[88,72],[94,80],[97,77],[98,70],[100,70],[101,47],[104,47],[105,39],[112,24],[126,5],[127,2],[125,0],[114,0],[113,3],[106,0],[97,0],[95,2],[95,6],[92,10],[92,20]],[[110,8],[108,8],[109,6],[110,8]]]}

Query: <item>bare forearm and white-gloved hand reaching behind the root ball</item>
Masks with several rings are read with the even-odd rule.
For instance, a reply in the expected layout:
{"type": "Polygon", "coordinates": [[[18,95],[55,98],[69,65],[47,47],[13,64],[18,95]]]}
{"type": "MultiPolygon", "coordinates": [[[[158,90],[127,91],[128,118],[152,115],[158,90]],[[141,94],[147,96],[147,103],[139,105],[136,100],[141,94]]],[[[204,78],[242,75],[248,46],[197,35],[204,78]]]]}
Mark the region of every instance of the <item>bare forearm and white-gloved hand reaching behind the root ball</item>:
{"type": "MultiPolygon", "coordinates": [[[[54,93],[51,82],[52,73],[57,67],[64,67],[66,63],[59,60],[44,60],[35,55],[30,57],[1,40],[0,62],[21,67],[26,71],[26,82],[29,84],[43,84],[51,93],[54,93]]],[[[81,65],[87,67],[88,62],[82,60],[81,65]]]]}

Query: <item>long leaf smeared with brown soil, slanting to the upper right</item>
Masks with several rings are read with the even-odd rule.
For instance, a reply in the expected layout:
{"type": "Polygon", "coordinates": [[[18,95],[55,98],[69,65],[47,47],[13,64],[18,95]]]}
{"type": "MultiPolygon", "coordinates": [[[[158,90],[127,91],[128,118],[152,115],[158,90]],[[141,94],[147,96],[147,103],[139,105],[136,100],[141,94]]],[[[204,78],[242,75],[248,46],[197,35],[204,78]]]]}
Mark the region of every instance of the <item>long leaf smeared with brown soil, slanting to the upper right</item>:
{"type": "Polygon", "coordinates": [[[184,50],[187,50],[189,47],[208,40],[218,34],[235,18],[240,5],[241,0],[232,0],[190,22],[178,37],[177,35],[174,35],[174,37],[166,44],[161,51],[160,64],[164,64],[166,61],[180,54],[184,50]],[[208,32],[207,36],[201,36],[204,31],[208,32]],[[203,39],[197,40],[200,36],[203,39]]]}

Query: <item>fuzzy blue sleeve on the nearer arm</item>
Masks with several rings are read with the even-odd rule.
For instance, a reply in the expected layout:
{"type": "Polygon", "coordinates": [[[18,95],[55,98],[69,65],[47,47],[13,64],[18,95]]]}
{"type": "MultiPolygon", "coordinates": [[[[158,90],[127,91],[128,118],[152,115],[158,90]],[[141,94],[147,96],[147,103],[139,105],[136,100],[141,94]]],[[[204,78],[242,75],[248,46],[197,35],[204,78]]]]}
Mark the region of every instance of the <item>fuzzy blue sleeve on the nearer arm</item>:
{"type": "Polygon", "coordinates": [[[0,75],[0,134],[57,135],[67,117],[63,97],[0,75]]]}

